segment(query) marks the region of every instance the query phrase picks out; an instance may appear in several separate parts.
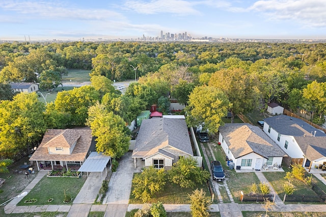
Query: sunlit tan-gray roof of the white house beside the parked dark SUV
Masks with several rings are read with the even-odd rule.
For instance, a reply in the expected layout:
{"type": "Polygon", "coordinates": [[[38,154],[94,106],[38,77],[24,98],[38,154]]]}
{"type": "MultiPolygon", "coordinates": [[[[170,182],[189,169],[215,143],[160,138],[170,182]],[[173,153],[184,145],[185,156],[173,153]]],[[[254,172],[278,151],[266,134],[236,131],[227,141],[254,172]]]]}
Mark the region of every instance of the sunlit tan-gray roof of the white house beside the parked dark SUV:
{"type": "Polygon", "coordinates": [[[233,156],[239,158],[256,153],[265,158],[286,156],[285,152],[258,126],[251,124],[225,124],[219,128],[233,156]]]}

